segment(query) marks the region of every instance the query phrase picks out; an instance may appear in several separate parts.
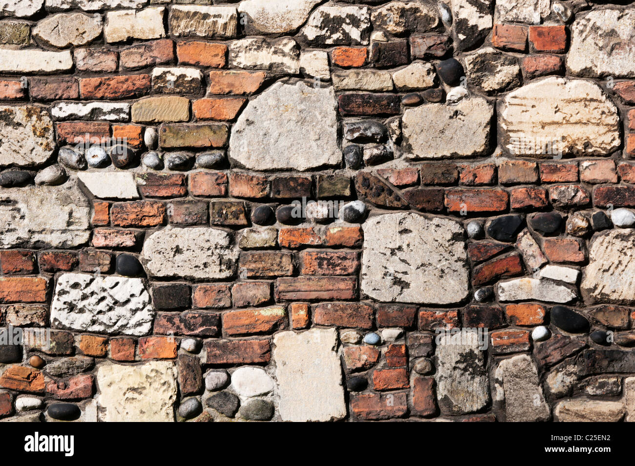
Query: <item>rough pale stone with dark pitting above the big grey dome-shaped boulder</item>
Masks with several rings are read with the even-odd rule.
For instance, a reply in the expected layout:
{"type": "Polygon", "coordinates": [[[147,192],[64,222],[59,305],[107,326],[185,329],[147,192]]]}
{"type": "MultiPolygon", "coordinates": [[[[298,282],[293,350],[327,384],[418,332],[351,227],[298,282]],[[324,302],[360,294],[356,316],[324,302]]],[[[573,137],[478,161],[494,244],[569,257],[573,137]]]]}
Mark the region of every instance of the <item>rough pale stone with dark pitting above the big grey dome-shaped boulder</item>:
{"type": "Polygon", "coordinates": [[[229,63],[243,69],[297,74],[300,71],[300,48],[291,38],[250,38],[229,45],[229,63]]]}

